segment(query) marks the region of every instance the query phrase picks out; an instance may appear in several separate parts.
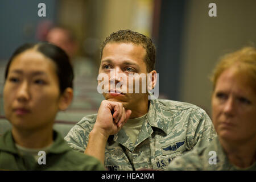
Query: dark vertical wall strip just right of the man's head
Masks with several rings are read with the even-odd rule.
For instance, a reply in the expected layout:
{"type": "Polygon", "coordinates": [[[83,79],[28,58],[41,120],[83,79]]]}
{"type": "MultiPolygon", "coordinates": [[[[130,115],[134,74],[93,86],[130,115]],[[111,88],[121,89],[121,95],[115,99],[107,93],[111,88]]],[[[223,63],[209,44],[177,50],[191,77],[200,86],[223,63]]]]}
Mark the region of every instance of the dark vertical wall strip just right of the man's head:
{"type": "Polygon", "coordinates": [[[159,73],[159,93],[171,100],[179,100],[184,8],[184,0],[161,1],[155,68],[159,73]]]}

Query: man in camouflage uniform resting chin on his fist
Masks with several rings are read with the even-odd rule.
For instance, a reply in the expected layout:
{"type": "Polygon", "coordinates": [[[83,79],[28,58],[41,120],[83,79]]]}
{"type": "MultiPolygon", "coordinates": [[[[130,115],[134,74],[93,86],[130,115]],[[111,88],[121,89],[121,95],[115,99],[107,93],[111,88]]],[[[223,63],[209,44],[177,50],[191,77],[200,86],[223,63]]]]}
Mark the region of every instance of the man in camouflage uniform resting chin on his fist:
{"type": "MultiPolygon", "coordinates": [[[[151,39],[121,30],[102,44],[99,73],[110,75],[114,69],[125,75],[154,75],[154,64],[155,47],[151,39]]],[[[155,75],[147,80],[147,86],[154,88],[155,75]]],[[[122,81],[110,75],[110,84],[122,81]]],[[[125,84],[122,86],[127,89],[125,84]]],[[[75,150],[101,160],[110,170],[164,170],[176,156],[206,146],[215,136],[210,118],[195,105],[148,100],[149,93],[123,93],[116,88],[103,95],[106,100],[98,114],[82,118],[65,140],[75,150]]]]}

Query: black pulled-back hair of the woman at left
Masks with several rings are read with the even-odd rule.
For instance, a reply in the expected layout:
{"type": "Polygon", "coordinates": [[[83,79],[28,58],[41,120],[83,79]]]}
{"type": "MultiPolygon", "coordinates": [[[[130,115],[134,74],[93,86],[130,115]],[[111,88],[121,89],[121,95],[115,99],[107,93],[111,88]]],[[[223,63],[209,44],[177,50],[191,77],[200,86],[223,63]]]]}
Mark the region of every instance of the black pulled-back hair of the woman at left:
{"type": "Polygon", "coordinates": [[[34,47],[36,47],[36,51],[42,53],[44,56],[48,57],[55,63],[56,73],[59,78],[60,93],[63,93],[64,90],[68,87],[73,88],[74,74],[73,74],[72,65],[70,63],[67,53],[65,53],[65,51],[63,51],[63,49],[61,49],[60,47],[57,47],[48,42],[26,43],[18,47],[14,51],[13,55],[10,57],[6,65],[5,80],[7,78],[9,68],[14,57],[34,47]]]}

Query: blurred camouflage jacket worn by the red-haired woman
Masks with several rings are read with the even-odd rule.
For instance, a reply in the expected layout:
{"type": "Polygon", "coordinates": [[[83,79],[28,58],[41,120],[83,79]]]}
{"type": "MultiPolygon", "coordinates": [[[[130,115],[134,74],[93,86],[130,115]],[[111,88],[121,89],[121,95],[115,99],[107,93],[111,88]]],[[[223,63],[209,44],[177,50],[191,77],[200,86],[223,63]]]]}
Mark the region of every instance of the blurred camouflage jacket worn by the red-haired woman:
{"type": "Polygon", "coordinates": [[[245,169],[238,168],[230,164],[218,137],[214,138],[207,147],[197,148],[187,154],[173,160],[169,166],[169,170],[256,170],[256,162],[245,169]],[[214,158],[216,160],[214,161],[214,158]]]}

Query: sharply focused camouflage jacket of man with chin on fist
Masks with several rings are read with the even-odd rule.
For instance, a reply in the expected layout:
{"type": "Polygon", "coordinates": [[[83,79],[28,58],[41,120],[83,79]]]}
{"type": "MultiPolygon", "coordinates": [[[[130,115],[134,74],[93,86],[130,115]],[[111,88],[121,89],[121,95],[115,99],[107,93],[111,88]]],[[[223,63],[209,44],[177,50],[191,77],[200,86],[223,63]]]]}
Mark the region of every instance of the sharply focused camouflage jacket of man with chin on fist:
{"type": "MultiPolygon", "coordinates": [[[[65,137],[69,146],[84,152],[97,115],[88,115],[65,137]]],[[[206,146],[216,135],[203,109],[169,100],[150,100],[146,121],[133,144],[121,129],[111,135],[105,148],[109,170],[167,169],[176,156],[206,146]]]]}

